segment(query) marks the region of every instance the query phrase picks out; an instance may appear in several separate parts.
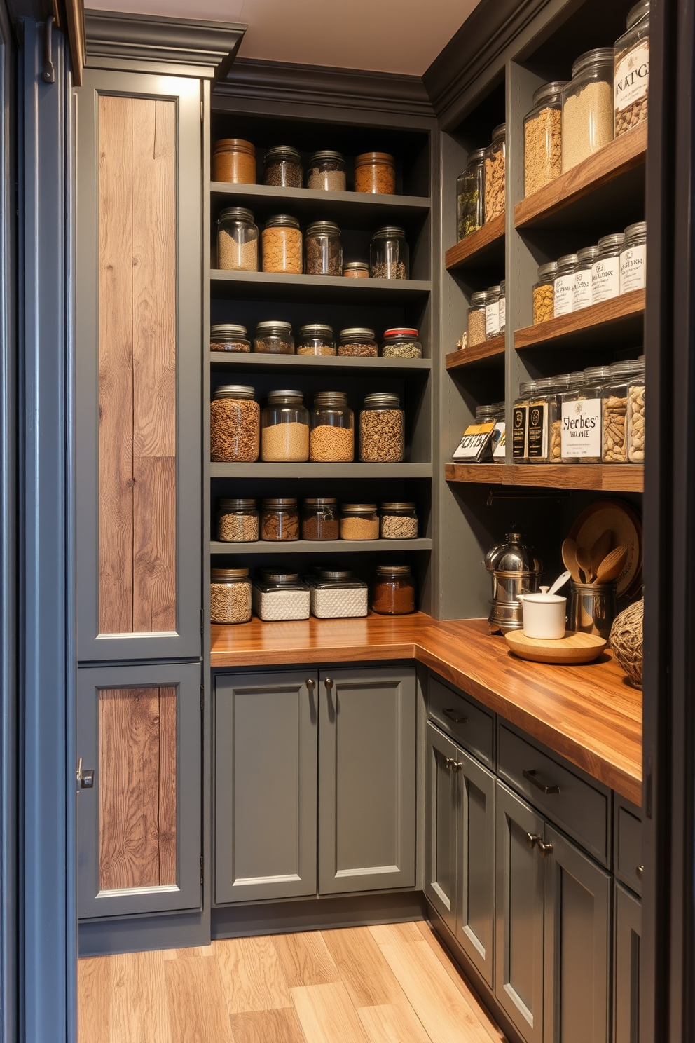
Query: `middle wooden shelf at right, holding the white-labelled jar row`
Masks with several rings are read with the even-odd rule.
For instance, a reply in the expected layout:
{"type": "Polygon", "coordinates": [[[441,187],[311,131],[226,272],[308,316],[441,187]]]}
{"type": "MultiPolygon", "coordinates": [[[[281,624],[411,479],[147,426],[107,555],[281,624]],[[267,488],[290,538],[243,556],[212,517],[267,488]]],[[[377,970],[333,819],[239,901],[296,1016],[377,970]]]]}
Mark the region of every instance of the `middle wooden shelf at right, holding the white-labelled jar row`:
{"type": "Polygon", "coordinates": [[[644,336],[645,290],[590,305],[579,312],[516,330],[517,351],[529,347],[622,347],[639,344],[644,336]]]}

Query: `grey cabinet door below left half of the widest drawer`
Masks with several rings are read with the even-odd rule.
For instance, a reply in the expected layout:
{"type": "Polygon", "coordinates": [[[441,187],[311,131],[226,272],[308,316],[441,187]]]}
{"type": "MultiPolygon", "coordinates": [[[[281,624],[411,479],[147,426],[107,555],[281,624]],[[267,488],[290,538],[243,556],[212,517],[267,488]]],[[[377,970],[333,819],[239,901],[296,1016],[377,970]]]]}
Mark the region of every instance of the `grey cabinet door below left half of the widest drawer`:
{"type": "Polygon", "coordinates": [[[542,1043],[544,859],[531,839],[544,822],[499,781],[496,798],[495,995],[524,1039],[542,1043]]]}

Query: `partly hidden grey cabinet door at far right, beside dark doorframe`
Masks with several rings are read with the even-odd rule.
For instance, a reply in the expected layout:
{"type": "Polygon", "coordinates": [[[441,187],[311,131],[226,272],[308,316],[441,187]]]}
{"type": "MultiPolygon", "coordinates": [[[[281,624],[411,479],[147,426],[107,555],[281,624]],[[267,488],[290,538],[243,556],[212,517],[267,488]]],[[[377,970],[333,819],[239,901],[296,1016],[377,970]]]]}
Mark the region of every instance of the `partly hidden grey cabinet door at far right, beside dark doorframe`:
{"type": "Polygon", "coordinates": [[[615,887],[613,1040],[614,1043],[639,1043],[642,902],[620,883],[615,887]]]}

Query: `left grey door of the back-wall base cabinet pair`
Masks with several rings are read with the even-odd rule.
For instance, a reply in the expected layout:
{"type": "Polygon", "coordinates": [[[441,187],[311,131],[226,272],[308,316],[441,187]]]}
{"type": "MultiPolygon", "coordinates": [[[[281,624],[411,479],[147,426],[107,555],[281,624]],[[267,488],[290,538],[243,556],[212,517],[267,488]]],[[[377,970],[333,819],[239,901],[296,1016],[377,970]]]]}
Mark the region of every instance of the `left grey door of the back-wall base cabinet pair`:
{"type": "Polygon", "coordinates": [[[316,894],[316,674],[218,675],[218,904],[316,894]]]}

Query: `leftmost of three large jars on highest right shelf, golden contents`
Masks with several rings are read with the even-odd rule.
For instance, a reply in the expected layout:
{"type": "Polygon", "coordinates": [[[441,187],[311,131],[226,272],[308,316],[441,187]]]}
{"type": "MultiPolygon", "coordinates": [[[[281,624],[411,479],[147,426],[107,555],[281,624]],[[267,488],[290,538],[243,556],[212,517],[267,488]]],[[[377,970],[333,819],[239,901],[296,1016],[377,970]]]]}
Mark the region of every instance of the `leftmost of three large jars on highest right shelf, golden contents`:
{"type": "Polygon", "coordinates": [[[533,92],[533,107],[524,117],[524,195],[538,192],[562,173],[565,87],[566,79],[556,79],[533,92]]]}

